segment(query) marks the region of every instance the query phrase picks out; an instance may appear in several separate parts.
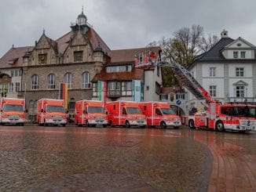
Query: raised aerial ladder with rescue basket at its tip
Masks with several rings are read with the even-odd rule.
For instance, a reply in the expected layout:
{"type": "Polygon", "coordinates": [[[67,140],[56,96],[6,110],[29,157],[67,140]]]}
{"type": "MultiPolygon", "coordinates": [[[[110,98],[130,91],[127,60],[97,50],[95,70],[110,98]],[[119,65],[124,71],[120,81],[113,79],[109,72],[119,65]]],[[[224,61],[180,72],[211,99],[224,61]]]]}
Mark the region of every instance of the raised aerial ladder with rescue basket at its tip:
{"type": "Polygon", "coordinates": [[[202,85],[196,81],[196,79],[189,73],[185,67],[182,67],[178,63],[166,63],[161,61],[161,56],[159,53],[159,58],[157,60],[153,60],[150,56],[148,59],[142,60],[142,62],[137,63],[135,67],[137,68],[148,68],[148,67],[170,67],[174,71],[174,76],[178,79],[180,84],[188,89],[197,100],[199,100],[204,107],[208,108],[208,103],[212,102],[210,98],[210,94],[203,89],[202,85]],[[143,62],[147,61],[147,63],[143,62]]]}

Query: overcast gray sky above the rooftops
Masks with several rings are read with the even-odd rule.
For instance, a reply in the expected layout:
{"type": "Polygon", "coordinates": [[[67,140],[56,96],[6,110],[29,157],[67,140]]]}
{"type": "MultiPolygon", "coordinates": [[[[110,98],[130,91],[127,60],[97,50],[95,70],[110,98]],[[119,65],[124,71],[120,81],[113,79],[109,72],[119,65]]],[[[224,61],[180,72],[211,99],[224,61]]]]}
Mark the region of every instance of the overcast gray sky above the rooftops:
{"type": "Polygon", "coordinates": [[[255,0],[8,0],[0,6],[0,56],[14,46],[34,45],[45,28],[57,39],[82,11],[110,49],[144,47],[199,24],[204,34],[245,38],[256,45],[255,0]]]}

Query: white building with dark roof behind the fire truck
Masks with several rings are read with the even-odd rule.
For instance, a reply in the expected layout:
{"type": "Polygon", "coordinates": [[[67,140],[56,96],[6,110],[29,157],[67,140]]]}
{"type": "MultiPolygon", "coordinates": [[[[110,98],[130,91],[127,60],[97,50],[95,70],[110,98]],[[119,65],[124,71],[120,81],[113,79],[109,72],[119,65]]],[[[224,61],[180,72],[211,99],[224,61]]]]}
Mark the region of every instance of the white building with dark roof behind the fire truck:
{"type": "MultiPolygon", "coordinates": [[[[207,53],[196,57],[188,71],[214,100],[222,103],[256,103],[255,46],[221,32],[221,39],[207,53]]],[[[188,107],[202,107],[188,94],[188,107]]]]}

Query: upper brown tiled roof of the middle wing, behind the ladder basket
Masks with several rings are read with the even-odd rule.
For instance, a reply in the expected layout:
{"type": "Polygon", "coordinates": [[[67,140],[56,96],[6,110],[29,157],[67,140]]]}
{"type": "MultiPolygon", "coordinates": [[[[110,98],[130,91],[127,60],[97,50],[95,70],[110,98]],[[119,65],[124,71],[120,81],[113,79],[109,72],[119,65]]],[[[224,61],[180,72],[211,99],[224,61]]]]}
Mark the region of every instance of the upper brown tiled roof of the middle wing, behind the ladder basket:
{"type": "Polygon", "coordinates": [[[122,63],[134,61],[134,56],[138,53],[155,52],[158,53],[160,47],[146,47],[137,49],[119,49],[108,51],[108,56],[111,57],[111,63],[122,63]]]}

